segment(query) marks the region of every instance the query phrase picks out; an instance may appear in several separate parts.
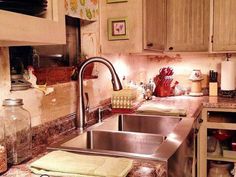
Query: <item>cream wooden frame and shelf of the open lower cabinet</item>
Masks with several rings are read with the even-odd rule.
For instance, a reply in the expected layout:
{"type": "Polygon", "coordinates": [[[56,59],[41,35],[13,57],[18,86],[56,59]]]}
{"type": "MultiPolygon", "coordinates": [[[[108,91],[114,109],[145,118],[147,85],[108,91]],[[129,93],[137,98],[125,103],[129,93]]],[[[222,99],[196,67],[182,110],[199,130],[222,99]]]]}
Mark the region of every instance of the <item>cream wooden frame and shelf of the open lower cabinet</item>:
{"type": "MultiPolygon", "coordinates": [[[[236,123],[234,121],[236,109],[223,108],[203,108],[203,123],[199,131],[198,144],[198,177],[207,176],[208,160],[224,161],[236,163],[236,157],[232,155],[211,155],[207,152],[207,136],[209,129],[223,129],[236,131],[236,123]],[[230,114],[229,114],[230,113],[230,114]]],[[[225,154],[226,155],[226,154],[225,154]]]]}

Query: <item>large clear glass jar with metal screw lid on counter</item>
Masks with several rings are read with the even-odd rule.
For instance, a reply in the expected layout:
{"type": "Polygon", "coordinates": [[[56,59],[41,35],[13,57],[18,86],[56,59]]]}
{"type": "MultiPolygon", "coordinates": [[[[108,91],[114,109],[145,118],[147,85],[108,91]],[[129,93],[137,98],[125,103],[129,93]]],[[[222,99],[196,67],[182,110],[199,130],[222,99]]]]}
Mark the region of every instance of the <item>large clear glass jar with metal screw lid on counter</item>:
{"type": "Polygon", "coordinates": [[[5,139],[9,164],[19,164],[31,157],[31,117],[22,99],[5,99],[1,115],[5,123],[5,139]]]}

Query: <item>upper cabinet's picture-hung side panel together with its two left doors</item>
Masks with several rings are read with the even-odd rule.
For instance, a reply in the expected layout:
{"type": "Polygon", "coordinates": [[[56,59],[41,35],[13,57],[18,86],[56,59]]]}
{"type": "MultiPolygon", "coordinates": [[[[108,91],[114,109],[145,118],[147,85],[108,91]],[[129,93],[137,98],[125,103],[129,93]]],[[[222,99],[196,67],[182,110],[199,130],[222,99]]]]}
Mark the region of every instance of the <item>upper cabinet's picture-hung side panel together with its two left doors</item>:
{"type": "Polygon", "coordinates": [[[207,52],[209,1],[101,1],[101,52],[207,52]],[[109,18],[126,17],[128,38],[108,40],[109,18]]]}

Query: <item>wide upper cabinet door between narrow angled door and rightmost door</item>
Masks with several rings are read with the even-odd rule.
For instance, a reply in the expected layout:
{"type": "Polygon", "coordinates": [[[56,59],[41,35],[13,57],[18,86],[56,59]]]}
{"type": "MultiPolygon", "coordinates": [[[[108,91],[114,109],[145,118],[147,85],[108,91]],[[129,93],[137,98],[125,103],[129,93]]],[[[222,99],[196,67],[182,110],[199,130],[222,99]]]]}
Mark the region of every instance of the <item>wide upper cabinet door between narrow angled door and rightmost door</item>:
{"type": "Polygon", "coordinates": [[[167,0],[167,51],[208,51],[208,36],[208,0],[167,0]]]}

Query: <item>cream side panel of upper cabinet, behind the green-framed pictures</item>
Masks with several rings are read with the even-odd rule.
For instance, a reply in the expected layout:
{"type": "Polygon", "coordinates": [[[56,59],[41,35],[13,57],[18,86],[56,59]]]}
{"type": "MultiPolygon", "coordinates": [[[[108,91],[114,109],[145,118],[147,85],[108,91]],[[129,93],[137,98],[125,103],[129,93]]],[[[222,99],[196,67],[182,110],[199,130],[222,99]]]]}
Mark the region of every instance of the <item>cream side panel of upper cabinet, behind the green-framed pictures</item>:
{"type": "Polygon", "coordinates": [[[101,53],[139,53],[143,50],[142,0],[107,3],[100,0],[100,44],[101,53]],[[127,39],[108,39],[108,21],[125,18],[127,39]]]}

